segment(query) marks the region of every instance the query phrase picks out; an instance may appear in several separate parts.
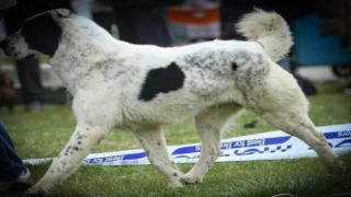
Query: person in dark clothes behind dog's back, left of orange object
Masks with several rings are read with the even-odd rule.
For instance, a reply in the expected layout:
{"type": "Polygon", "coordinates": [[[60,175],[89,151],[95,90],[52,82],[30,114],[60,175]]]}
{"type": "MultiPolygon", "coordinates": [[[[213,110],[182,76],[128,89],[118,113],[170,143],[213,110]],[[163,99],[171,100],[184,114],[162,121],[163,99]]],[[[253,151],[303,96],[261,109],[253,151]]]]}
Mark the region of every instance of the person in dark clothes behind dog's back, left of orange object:
{"type": "Polygon", "coordinates": [[[101,0],[101,2],[113,7],[114,23],[118,27],[121,40],[161,47],[171,46],[167,7],[182,0],[101,0]]]}

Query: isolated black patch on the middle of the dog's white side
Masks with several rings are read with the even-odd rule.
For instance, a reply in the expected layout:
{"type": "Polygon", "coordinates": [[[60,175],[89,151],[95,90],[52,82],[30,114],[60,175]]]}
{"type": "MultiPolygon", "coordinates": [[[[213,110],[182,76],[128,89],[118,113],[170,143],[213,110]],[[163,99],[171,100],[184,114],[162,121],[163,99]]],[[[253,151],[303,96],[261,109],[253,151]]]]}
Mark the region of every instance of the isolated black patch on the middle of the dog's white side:
{"type": "Polygon", "coordinates": [[[185,74],[176,62],[167,68],[158,68],[147,73],[145,83],[141,88],[139,100],[150,101],[158,93],[177,91],[183,86],[185,74]]]}

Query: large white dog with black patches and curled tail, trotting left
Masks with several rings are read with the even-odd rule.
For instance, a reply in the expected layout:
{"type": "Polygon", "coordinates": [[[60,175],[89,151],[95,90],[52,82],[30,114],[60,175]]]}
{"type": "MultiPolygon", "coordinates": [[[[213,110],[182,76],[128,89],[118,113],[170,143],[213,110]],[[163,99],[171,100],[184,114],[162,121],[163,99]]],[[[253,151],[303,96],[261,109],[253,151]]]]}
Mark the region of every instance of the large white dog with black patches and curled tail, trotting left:
{"type": "Polygon", "coordinates": [[[29,194],[49,192],[60,183],[112,127],[136,136],[169,186],[202,182],[220,154],[226,124],[241,107],[304,140],[328,169],[343,171],[309,119],[308,102],[295,79],[275,63],[293,45],[279,14],[256,10],[245,15],[237,28],[248,42],[161,48],[116,40],[92,21],[57,11],[27,20],[0,44],[15,59],[49,56],[75,97],[76,130],[29,194]],[[167,152],[162,126],[190,117],[202,150],[199,162],[184,174],[167,152]]]}

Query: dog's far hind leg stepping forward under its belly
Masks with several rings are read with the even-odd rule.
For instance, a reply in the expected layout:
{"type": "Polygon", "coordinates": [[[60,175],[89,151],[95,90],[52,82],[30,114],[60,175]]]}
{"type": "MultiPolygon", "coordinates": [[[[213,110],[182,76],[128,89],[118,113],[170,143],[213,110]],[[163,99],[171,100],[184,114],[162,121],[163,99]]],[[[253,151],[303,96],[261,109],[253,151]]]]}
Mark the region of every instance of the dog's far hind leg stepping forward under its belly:
{"type": "Polygon", "coordinates": [[[212,106],[195,117],[196,131],[201,137],[201,155],[197,163],[181,177],[185,184],[202,182],[211,165],[220,155],[220,138],[226,124],[241,109],[235,104],[212,106]]]}

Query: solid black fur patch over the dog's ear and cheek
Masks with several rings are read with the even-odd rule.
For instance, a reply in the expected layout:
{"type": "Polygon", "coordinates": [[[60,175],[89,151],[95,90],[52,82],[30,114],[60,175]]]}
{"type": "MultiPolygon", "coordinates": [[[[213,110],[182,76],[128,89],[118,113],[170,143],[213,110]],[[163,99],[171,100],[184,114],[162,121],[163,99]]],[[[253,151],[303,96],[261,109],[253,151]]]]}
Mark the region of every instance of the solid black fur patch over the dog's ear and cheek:
{"type": "Polygon", "coordinates": [[[58,48],[63,34],[61,27],[54,21],[50,13],[44,13],[24,22],[22,35],[30,49],[53,57],[58,48]]]}

